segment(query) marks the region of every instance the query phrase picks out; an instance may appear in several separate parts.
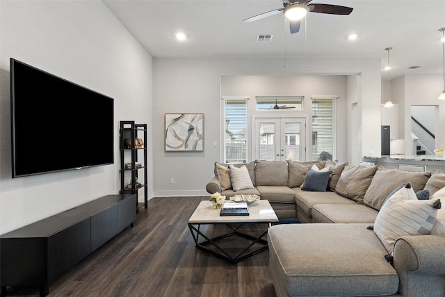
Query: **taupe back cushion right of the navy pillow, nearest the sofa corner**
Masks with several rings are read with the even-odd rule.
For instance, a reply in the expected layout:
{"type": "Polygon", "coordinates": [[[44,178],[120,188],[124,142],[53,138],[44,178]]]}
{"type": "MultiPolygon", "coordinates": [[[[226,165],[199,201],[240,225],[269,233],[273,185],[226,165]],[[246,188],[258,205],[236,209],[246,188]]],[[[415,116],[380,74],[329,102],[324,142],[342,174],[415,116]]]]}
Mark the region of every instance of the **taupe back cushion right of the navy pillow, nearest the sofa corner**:
{"type": "Polygon", "coordinates": [[[377,171],[377,166],[364,167],[346,164],[335,191],[343,197],[363,204],[364,194],[371,184],[375,171],[377,171]]]}

